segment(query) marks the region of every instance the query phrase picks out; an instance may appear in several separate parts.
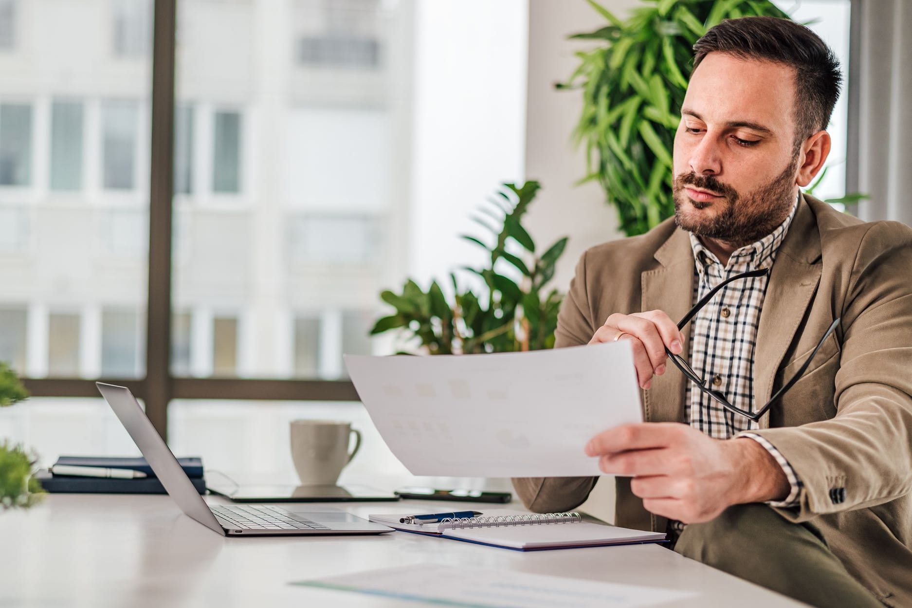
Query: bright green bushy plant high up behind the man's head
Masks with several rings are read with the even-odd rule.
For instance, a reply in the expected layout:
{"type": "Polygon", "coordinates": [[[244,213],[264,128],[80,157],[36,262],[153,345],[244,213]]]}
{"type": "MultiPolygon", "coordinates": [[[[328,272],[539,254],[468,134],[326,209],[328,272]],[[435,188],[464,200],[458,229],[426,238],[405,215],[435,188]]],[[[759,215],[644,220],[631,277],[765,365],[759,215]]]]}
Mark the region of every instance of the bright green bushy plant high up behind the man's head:
{"type": "Polygon", "coordinates": [[[617,206],[627,236],[674,215],[671,151],[687,90],[693,44],[725,18],[788,17],[769,0],[644,0],[621,21],[586,0],[607,25],[572,38],[598,44],[558,88],[582,89],[574,131],[586,148],[586,177],[617,206]]]}

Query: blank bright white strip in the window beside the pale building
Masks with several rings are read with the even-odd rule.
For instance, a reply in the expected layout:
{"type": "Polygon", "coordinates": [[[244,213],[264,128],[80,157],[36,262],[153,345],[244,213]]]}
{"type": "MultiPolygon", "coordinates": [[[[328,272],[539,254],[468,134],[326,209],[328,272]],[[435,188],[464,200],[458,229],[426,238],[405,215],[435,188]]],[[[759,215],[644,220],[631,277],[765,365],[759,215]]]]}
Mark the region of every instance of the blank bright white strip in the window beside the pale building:
{"type": "MultiPolygon", "coordinates": [[[[555,5],[557,3],[554,3],[555,5]]],[[[409,277],[482,264],[458,236],[498,183],[523,179],[526,3],[416,3],[409,277]]]]}

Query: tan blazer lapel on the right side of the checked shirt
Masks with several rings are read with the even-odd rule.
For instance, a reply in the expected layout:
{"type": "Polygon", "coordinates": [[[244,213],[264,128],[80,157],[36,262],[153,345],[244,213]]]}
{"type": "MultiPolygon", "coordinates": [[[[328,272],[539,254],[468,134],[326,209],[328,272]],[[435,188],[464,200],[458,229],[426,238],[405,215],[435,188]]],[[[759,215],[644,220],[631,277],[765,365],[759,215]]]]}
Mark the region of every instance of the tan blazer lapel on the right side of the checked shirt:
{"type": "MultiPolygon", "coordinates": [[[[789,232],[776,253],[763,298],[753,366],[753,399],[757,408],[770,400],[776,371],[820,283],[820,252],[816,218],[802,195],[789,232]]],[[[759,425],[770,425],[769,412],[759,425]]]]}

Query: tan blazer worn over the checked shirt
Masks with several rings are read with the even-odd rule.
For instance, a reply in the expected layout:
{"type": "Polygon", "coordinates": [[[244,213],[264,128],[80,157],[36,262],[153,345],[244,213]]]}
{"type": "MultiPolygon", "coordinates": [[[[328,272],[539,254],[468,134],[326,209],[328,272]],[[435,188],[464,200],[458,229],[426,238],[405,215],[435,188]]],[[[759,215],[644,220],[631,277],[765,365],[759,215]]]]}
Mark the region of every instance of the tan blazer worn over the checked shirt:
{"type": "MultiPolygon", "coordinates": [[[[688,234],[673,219],[583,255],[561,309],[556,346],[586,344],[614,312],[691,306],[688,234]]],[[[758,433],[803,481],[800,508],[860,582],[885,603],[912,606],[912,229],[864,223],[804,195],[772,266],[757,333],[754,400],[766,403],[842,318],[801,380],[758,433]]],[[[683,331],[689,341],[689,329],[683,331]]],[[[684,345],[688,352],[688,345],[684,345]]],[[[682,422],[686,379],[673,365],[643,391],[651,422],[682,422]]],[[[595,433],[600,429],[593,429],[595,433]]],[[[517,478],[528,508],[580,505],[597,477],[517,478]]],[[[616,477],[617,525],[665,531],[616,477]]],[[[745,548],[745,550],[749,550],[745,548]]]]}

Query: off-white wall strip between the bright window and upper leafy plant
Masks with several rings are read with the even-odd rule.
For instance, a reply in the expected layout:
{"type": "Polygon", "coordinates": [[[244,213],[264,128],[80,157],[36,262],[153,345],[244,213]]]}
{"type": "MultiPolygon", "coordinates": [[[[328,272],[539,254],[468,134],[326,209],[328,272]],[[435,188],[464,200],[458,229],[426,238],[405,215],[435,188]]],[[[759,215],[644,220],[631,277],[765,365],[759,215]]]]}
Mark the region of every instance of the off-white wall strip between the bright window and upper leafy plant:
{"type": "MultiPolygon", "coordinates": [[[[640,3],[637,0],[604,0],[602,5],[620,18],[640,3]]],[[[554,89],[577,65],[574,52],[585,47],[567,40],[571,34],[604,25],[583,0],[578,2],[529,2],[529,72],[526,109],[525,174],[543,185],[529,212],[527,225],[536,244],[545,246],[569,236],[554,285],[566,290],[574,267],[588,247],[623,236],[617,232],[617,213],[605,204],[596,183],[574,186],[586,174],[586,157],[571,142],[579,116],[578,91],[554,89]]],[[[603,478],[581,509],[598,518],[614,519],[614,483],[603,478]]]]}

